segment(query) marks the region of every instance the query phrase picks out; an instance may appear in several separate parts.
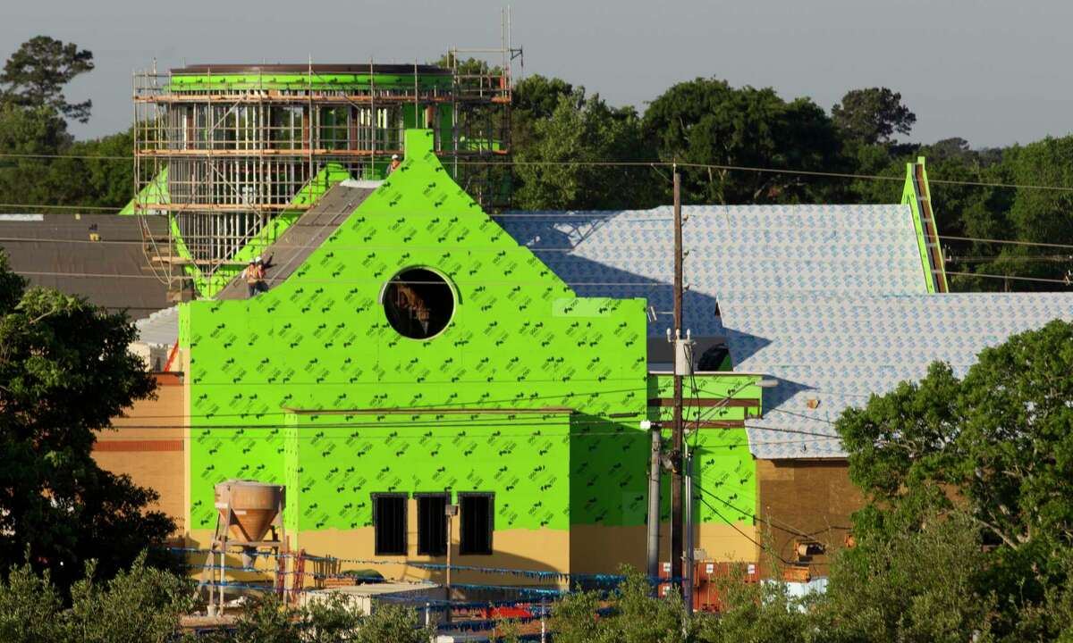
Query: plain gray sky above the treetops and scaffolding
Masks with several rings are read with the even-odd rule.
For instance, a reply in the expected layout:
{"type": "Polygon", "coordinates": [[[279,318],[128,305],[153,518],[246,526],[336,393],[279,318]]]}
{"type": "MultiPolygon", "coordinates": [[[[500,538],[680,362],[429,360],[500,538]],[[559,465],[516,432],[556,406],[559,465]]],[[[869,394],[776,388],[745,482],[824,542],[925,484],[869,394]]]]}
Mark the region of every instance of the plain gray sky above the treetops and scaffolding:
{"type": "MultiPolygon", "coordinates": [[[[0,56],[46,34],[93,51],[69,95],[93,100],[78,137],[132,117],[131,71],[203,62],[410,62],[498,45],[485,0],[3,0],[0,56]]],[[[672,84],[717,76],[807,95],[900,91],[912,139],[974,147],[1073,131],[1069,0],[515,0],[525,73],[560,76],[644,109],[672,84]]]]}

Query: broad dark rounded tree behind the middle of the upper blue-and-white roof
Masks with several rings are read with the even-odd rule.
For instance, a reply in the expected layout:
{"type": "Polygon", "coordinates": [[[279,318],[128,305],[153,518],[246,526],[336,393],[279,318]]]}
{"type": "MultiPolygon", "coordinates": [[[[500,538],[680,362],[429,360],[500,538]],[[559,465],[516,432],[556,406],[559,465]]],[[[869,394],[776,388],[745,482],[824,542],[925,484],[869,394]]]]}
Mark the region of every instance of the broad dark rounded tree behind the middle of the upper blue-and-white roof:
{"type": "Polygon", "coordinates": [[[685,164],[687,201],[823,200],[832,190],[824,179],[737,168],[842,167],[840,141],[823,109],[808,99],[787,103],[769,88],[735,89],[715,78],[679,83],[651,102],[644,131],[661,161],[685,164]]]}

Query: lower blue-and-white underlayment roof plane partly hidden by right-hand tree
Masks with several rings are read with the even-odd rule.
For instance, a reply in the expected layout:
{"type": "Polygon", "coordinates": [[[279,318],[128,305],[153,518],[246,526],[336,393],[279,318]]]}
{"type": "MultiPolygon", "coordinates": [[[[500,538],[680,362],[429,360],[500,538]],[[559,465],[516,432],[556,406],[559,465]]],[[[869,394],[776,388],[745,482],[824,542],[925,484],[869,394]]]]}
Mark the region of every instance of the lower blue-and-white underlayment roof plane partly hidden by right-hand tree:
{"type": "Polygon", "coordinates": [[[760,459],[842,458],[834,421],[871,394],[920,379],[934,361],[964,375],[988,346],[1073,320],[1073,293],[771,297],[720,300],[735,370],[775,375],[750,420],[760,459]],[[809,408],[809,400],[819,403],[809,408]]]}

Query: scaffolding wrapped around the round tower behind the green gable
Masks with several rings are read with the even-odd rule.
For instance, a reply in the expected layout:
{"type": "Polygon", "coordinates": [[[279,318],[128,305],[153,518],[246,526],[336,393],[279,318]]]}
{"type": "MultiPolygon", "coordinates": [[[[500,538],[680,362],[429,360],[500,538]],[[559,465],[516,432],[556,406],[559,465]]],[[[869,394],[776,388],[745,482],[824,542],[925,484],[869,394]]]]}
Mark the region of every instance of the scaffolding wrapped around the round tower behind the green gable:
{"type": "Polygon", "coordinates": [[[411,128],[433,132],[444,166],[482,207],[502,207],[510,173],[497,165],[510,153],[519,56],[505,36],[499,49],[452,48],[443,66],[310,60],[135,73],[134,213],[171,224],[166,239],[145,239],[158,275],[175,299],[211,297],[204,284],[240,269],[236,255],[263,244],[274,221],[300,216],[329,176],[384,178],[411,128]],[[464,58],[474,55],[485,58],[464,58]]]}

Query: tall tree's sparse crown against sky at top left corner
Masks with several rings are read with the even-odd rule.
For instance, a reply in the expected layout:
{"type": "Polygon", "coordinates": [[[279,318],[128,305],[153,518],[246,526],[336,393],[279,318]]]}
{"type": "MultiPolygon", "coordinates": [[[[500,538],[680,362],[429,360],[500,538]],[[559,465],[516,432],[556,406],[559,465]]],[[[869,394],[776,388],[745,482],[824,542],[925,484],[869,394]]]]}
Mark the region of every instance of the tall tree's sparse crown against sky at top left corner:
{"type": "Polygon", "coordinates": [[[92,71],[93,54],[74,43],[38,35],[23,43],[4,63],[0,74],[2,101],[20,107],[52,107],[78,122],[89,121],[92,101],[71,103],[63,86],[92,71]]]}

